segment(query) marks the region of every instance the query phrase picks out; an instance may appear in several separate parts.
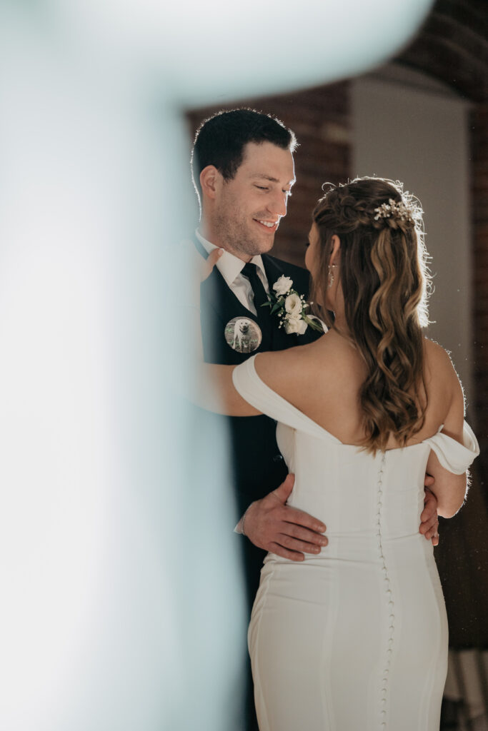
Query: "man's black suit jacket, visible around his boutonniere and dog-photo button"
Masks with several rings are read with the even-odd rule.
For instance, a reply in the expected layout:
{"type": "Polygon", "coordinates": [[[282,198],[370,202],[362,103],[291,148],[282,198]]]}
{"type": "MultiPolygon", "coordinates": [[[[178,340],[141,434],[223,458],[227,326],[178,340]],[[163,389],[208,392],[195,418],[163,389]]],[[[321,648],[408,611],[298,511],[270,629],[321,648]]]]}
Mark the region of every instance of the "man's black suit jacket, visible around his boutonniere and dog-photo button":
{"type": "MultiPolygon", "coordinates": [[[[293,289],[307,298],[309,274],[306,270],[267,254],[263,254],[262,259],[270,289],[280,276],[289,276],[293,279],[293,289]]],[[[209,279],[201,285],[200,302],[203,352],[206,362],[237,365],[247,360],[249,354],[236,352],[225,341],[225,325],[233,317],[248,317],[254,320],[258,318],[239,302],[217,267],[209,279]]],[[[284,328],[278,328],[279,319],[275,314],[269,317],[269,323],[268,328],[261,327],[263,341],[255,352],[284,350],[307,344],[319,335],[311,327],[307,328],[304,335],[287,335],[284,328]]],[[[276,422],[267,416],[216,417],[208,414],[207,418],[224,419],[228,425],[237,523],[252,501],[263,498],[276,489],[288,474],[277,446],[276,422]]],[[[249,603],[252,603],[266,554],[263,550],[255,548],[244,537],[239,537],[239,540],[244,551],[249,603]]]]}

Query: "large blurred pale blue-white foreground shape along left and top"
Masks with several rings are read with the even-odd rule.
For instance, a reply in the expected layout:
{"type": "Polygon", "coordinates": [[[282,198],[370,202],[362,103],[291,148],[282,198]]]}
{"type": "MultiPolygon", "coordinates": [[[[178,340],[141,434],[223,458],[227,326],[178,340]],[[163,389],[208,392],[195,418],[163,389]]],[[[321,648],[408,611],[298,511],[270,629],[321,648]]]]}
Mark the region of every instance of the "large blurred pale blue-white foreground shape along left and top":
{"type": "Polygon", "coordinates": [[[2,730],[235,727],[228,450],[174,394],[179,109],[364,69],[429,4],[0,2],[2,730]]]}

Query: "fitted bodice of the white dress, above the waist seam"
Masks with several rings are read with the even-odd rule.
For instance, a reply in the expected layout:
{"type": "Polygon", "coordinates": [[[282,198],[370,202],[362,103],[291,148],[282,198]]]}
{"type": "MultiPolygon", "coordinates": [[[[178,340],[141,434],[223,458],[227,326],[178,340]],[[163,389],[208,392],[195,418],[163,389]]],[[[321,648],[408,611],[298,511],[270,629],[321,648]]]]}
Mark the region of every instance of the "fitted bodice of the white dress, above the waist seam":
{"type": "Polygon", "coordinates": [[[378,523],[388,539],[418,534],[429,444],[373,457],[326,432],[312,437],[280,423],[277,437],[295,474],[288,504],[323,520],[332,548],[336,537],[350,537],[361,550],[375,541],[378,523]]]}

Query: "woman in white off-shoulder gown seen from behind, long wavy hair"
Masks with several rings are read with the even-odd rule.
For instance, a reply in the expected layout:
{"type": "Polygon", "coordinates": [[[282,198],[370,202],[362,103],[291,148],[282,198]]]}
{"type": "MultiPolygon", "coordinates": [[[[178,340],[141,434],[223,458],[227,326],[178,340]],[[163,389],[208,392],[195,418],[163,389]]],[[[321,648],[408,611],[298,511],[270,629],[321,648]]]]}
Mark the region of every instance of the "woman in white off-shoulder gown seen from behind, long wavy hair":
{"type": "Polygon", "coordinates": [[[451,517],[478,444],[446,351],[421,332],[413,199],[360,178],[331,186],[312,218],[306,262],[329,330],[240,366],[202,364],[195,395],[276,420],[295,474],[288,504],[328,526],[318,555],[266,556],[249,625],[260,730],[437,731],[448,637],[432,545],[418,534],[424,474],[451,517]]]}

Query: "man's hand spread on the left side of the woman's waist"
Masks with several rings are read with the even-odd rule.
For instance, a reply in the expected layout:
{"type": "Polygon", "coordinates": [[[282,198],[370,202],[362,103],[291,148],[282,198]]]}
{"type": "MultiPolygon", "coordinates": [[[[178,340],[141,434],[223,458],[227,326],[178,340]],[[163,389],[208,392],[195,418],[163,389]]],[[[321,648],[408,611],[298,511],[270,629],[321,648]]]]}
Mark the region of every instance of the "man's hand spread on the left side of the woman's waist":
{"type": "Polygon", "coordinates": [[[245,535],[258,548],[291,561],[303,561],[304,553],[318,554],[328,540],[326,526],[307,512],[286,504],[295,476],[289,474],[279,488],[253,502],[246,512],[245,535]]]}

